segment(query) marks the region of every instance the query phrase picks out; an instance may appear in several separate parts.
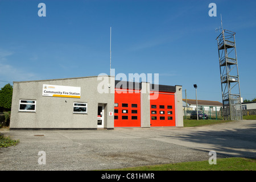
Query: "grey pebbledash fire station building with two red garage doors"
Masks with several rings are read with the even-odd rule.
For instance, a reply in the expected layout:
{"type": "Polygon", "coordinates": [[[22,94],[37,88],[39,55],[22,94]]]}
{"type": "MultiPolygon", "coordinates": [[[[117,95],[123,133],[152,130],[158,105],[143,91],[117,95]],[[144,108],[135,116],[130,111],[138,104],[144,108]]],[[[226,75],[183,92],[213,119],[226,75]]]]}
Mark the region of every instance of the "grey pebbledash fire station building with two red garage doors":
{"type": "Polygon", "coordinates": [[[10,130],[183,127],[181,89],[114,76],[14,82],[10,130]]]}

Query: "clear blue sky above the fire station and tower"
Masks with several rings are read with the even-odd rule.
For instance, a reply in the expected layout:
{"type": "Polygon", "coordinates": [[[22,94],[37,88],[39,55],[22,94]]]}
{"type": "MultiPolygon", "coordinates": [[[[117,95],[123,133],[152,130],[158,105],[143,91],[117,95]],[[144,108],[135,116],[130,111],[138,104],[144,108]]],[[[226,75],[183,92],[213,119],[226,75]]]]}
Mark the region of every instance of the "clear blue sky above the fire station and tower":
{"type": "Polygon", "coordinates": [[[7,82],[109,75],[110,26],[115,75],[159,73],[187,98],[220,101],[217,36],[236,32],[241,96],[256,97],[256,1],[2,1],[0,87],[7,82]],[[39,17],[38,4],[46,4],[39,17]],[[210,17],[209,3],[217,16],[210,17]]]}

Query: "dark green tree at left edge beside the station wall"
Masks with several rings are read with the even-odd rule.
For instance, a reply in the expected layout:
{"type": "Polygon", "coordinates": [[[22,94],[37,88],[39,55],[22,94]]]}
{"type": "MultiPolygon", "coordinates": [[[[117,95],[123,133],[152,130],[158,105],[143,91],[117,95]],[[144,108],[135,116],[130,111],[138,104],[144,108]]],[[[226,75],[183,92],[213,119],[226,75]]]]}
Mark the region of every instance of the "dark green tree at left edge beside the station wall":
{"type": "Polygon", "coordinates": [[[3,110],[9,111],[11,110],[11,100],[13,98],[13,86],[10,84],[6,84],[0,90],[0,107],[3,110]]]}

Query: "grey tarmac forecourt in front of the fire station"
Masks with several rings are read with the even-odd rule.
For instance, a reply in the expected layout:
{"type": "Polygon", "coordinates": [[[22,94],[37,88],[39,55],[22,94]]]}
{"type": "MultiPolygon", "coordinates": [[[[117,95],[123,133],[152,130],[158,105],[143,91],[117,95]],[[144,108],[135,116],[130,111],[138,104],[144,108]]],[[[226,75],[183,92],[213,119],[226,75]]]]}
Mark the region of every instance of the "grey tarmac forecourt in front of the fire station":
{"type": "Polygon", "coordinates": [[[203,127],[1,131],[16,146],[0,148],[0,170],[94,170],[238,156],[256,158],[256,121],[203,127]],[[39,164],[44,151],[46,164],[39,164]]]}

